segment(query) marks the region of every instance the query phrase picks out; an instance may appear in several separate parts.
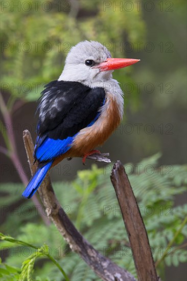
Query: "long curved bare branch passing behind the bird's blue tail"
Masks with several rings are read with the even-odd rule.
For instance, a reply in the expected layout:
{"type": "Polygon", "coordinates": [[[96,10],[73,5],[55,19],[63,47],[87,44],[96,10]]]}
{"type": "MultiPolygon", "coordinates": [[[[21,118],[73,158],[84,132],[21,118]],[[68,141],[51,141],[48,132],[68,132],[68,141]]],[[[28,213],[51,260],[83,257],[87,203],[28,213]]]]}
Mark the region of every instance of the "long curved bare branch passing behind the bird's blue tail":
{"type": "MultiPolygon", "coordinates": [[[[28,130],[24,131],[24,144],[30,169],[34,173],[37,164],[32,165],[34,146],[28,130]]],[[[135,278],[128,271],[117,266],[94,249],[75,228],[55,196],[49,174],[45,177],[38,192],[45,206],[46,214],[52,219],[61,235],[71,249],[77,252],[98,276],[106,281],[135,281],[135,278]]]]}

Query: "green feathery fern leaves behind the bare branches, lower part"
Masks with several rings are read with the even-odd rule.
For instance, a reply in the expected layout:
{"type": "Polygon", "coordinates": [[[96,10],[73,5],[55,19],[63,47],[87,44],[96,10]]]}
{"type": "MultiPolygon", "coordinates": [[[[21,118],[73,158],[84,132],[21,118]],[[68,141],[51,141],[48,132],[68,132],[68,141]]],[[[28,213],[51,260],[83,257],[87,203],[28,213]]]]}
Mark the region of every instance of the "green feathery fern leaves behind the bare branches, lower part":
{"type": "MultiPolygon", "coordinates": [[[[159,157],[160,154],[156,154],[137,165],[128,163],[125,168],[148,231],[158,273],[161,273],[161,269],[166,265],[178,266],[179,263],[186,261],[183,248],[186,238],[186,205],[175,206],[174,204],[174,196],[185,192],[186,167],[178,165],[172,166],[172,169],[167,166],[158,167],[159,157]]],[[[73,182],[55,182],[54,190],[67,215],[83,236],[101,254],[110,257],[112,261],[136,276],[119,204],[110,183],[110,168],[112,166],[98,169],[96,165],[93,165],[91,170],[79,171],[73,182]]],[[[5,200],[9,197],[9,193],[16,193],[11,185],[9,188],[8,184],[2,185],[2,191],[6,191],[5,200]]],[[[5,202],[8,203],[8,200],[5,202]]],[[[37,266],[35,252],[31,251],[29,256],[24,254],[24,245],[45,243],[48,245],[50,255],[63,267],[69,279],[99,280],[77,254],[69,249],[53,224],[46,229],[46,226],[38,221],[38,214],[36,215],[31,201],[23,201],[21,206],[22,210],[29,206],[32,212],[29,216],[25,216],[25,225],[18,228],[16,240],[10,241],[9,238],[8,241],[2,242],[2,247],[9,251],[6,264],[3,266],[4,272],[8,270],[6,265],[16,266],[19,270],[17,269],[15,274],[18,275],[21,268],[22,274],[26,276],[32,272],[35,264],[34,280],[39,280],[38,278],[54,280],[54,276],[56,276],[55,280],[62,279],[61,272],[55,264],[44,262],[37,266]],[[28,222],[30,218],[34,218],[33,212],[36,222],[30,223],[28,222]],[[24,241],[24,244],[17,248],[17,240],[24,241]],[[16,252],[20,255],[17,256],[16,252]]],[[[136,212],[136,208],[127,206],[126,212],[130,215],[130,212],[136,212]]],[[[16,226],[22,224],[24,214],[21,217],[14,213],[13,217],[14,220],[10,219],[9,214],[7,221],[2,225],[2,230],[5,231],[8,229],[7,225],[12,224],[12,231],[9,227],[10,235],[14,234],[13,229],[16,226]]],[[[41,247],[38,246],[37,252],[38,249],[41,247]]],[[[146,254],[146,249],[143,250],[146,254]]]]}

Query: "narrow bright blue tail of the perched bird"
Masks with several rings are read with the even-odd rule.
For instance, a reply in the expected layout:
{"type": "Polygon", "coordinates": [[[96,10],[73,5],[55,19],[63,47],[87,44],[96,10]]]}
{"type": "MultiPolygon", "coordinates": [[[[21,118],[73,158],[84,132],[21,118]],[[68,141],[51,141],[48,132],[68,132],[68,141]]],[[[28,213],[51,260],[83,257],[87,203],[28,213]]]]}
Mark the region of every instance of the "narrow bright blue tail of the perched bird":
{"type": "Polygon", "coordinates": [[[35,174],[32,176],[30,182],[28,183],[27,188],[25,189],[22,196],[26,198],[31,198],[33,194],[35,194],[41,182],[43,181],[46,173],[48,173],[48,170],[51,168],[52,163],[53,161],[46,163],[42,167],[38,167],[35,174]]]}

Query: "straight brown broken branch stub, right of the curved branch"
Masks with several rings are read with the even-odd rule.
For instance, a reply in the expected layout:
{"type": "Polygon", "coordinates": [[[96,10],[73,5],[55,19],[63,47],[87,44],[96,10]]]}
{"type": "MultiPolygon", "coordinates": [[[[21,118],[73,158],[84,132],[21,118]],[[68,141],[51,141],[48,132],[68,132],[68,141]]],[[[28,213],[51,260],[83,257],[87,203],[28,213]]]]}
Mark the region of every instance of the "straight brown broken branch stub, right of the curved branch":
{"type": "Polygon", "coordinates": [[[114,164],[110,178],[120,204],[138,280],[159,281],[160,278],[156,274],[146,228],[127,174],[120,161],[114,164]],[[127,208],[129,212],[127,212],[127,208]]]}

